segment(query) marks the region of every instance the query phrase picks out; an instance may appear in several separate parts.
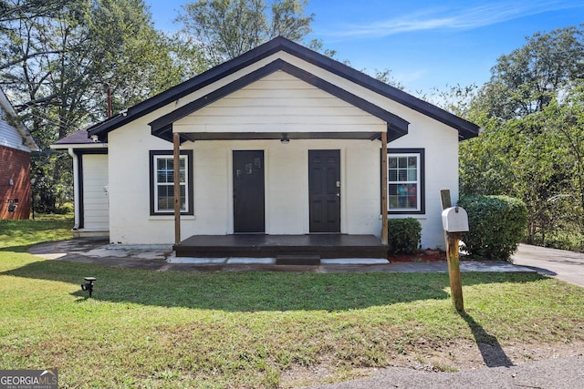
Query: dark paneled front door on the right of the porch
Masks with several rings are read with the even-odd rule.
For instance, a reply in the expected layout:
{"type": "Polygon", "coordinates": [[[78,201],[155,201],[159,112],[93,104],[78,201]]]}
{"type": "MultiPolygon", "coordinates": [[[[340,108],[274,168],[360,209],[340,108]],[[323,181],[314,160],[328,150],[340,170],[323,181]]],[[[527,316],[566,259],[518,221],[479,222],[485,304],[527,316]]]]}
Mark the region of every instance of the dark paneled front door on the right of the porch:
{"type": "Polygon", "coordinates": [[[310,232],[340,232],[340,150],[308,150],[310,232]]]}

